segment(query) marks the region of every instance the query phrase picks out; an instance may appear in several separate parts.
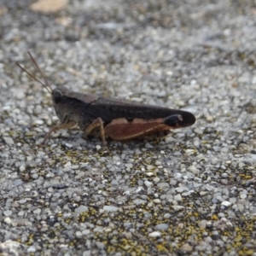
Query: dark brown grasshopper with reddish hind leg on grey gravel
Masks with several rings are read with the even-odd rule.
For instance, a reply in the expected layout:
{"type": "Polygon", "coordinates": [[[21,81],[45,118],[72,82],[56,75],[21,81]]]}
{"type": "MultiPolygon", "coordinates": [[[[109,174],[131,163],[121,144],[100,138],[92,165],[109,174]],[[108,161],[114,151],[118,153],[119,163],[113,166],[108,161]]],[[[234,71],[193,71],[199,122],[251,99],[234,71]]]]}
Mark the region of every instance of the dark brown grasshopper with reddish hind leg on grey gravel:
{"type": "Polygon", "coordinates": [[[44,79],[44,83],[27,72],[19,63],[16,64],[49,91],[55,113],[61,121],[60,125],[55,125],[49,130],[42,144],[49,139],[53,131],[72,128],[76,125],[84,131],[83,137],[99,130],[102,143],[106,146],[105,137],[125,141],[147,135],[166,135],[172,129],[195,123],[194,114],[182,110],[81,94],[64,87],[52,90],[30,52],[28,55],[44,79]]]}

